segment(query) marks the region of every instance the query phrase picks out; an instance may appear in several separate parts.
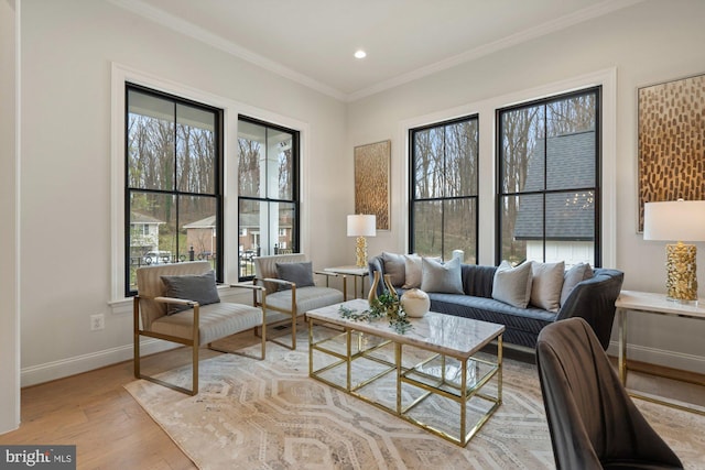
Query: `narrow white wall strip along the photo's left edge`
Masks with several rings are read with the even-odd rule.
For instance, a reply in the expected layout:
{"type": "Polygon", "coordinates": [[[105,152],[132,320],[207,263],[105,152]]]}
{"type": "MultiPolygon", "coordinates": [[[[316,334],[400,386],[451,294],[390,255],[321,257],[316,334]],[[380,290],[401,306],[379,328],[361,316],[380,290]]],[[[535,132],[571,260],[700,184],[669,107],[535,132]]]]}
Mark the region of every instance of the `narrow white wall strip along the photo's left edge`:
{"type": "Polygon", "coordinates": [[[0,1],[0,434],[20,424],[20,338],[17,295],[17,92],[19,7],[0,1]]]}

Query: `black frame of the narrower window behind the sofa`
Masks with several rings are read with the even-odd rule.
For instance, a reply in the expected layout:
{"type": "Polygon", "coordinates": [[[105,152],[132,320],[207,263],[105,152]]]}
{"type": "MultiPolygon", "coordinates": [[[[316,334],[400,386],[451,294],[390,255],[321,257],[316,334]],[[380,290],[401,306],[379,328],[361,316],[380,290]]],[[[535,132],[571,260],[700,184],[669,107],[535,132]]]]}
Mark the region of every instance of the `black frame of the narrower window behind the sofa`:
{"type": "MultiPolygon", "coordinates": [[[[440,121],[440,122],[434,122],[431,124],[425,124],[425,125],[421,125],[417,128],[412,128],[409,129],[409,251],[411,253],[416,252],[416,247],[415,247],[415,230],[414,230],[414,223],[415,223],[415,215],[414,215],[414,206],[416,203],[424,203],[424,201],[446,201],[446,200],[474,200],[475,203],[475,253],[474,253],[474,258],[475,258],[475,264],[478,263],[478,259],[479,259],[479,253],[478,253],[478,248],[479,248],[479,149],[480,149],[480,131],[479,131],[479,125],[480,125],[480,119],[479,119],[479,113],[473,113],[473,114],[468,114],[468,116],[463,116],[459,118],[454,118],[454,119],[448,119],[448,120],[444,120],[444,121],[440,121]],[[457,124],[460,122],[466,122],[466,121],[475,121],[476,122],[476,127],[477,127],[477,159],[475,161],[475,194],[474,195],[465,195],[465,196],[443,196],[443,197],[437,197],[437,198],[416,198],[415,196],[415,187],[416,187],[416,174],[415,174],[415,166],[414,166],[414,162],[415,162],[415,156],[416,156],[416,147],[415,147],[415,134],[417,132],[423,132],[423,131],[427,131],[430,129],[436,129],[436,128],[446,128],[447,125],[452,125],[452,124],[457,124]]],[[[445,131],[444,131],[444,138],[445,138],[445,131]]],[[[444,144],[444,149],[445,149],[445,144],[444,144]]],[[[446,159],[444,157],[443,160],[444,165],[446,164],[446,159]]],[[[445,175],[445,168],[444,168],[444,175],[445,175]]],[[[442,231],[443,228],[445,227],[445,211],[443,210],[442,214],[442,231]]],[[[441,241],[441,256],[443,258],[443,253],[445,252],[445,234],[442,237],[442,241],[441,241]]],[[[427,254],[427,253],[423,253],[423,254],[427,254]]],[[[435,253],[434,253],[435,254],[435,253]]],[[[464,260],[464,262],[467,262],[468,260],[464,260]]]]}

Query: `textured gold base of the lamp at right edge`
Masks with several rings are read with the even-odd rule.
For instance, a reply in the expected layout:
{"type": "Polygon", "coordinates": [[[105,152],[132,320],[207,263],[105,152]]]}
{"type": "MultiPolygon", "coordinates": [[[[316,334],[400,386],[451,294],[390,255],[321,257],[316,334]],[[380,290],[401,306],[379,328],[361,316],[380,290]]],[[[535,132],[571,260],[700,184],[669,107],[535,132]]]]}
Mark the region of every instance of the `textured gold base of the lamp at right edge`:
{"type": "Polygon", "coordinates": [[[697,304],[697,270],[694,244],[666,244],[666,298],[681,304],[697,304]]]}

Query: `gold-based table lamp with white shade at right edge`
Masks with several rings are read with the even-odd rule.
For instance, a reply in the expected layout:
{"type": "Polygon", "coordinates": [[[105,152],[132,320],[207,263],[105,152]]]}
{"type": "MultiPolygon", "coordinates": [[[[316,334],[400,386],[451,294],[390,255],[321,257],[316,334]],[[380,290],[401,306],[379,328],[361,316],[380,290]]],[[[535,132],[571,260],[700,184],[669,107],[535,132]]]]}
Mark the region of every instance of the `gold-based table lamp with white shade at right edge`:
{"type": "Polygon", "coordinates": [[[646,203],[643,239],[675,241],[666,244],[666,298],[697,304],[697,249],[683,241],[705,241],[705,200],[646,203]]]}

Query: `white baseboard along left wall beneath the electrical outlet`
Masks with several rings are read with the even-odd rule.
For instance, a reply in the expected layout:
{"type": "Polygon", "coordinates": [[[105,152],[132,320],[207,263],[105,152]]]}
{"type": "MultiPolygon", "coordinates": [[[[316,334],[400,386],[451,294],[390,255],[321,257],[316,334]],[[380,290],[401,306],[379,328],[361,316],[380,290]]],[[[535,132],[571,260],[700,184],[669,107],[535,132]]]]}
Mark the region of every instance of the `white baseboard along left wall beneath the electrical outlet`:
{"type": "MultiPolygon", "coordinates": [[[[178,347],[180,345],[169,341],[147,339],[140,343],[140,352],[141,356],[148,356],[178,347]]],[[[126,345],[91,352],[90,354],[76,356],[61,361],[23,368],[20,371],[20,386],[36,385],[39,383],[93,371],[106,365],[117,364],[118,362],[131,360],[133,354],[134,350],[132,345],[126,345]]]]}

